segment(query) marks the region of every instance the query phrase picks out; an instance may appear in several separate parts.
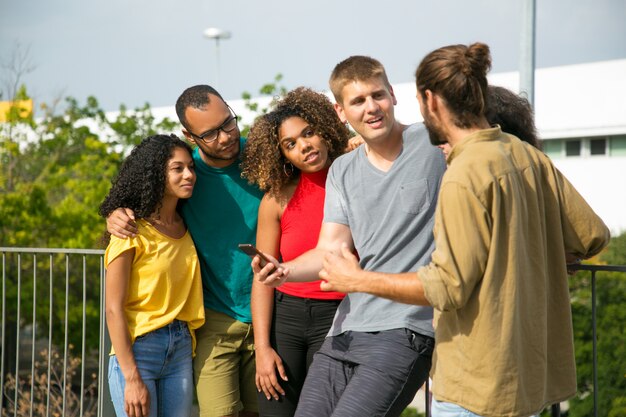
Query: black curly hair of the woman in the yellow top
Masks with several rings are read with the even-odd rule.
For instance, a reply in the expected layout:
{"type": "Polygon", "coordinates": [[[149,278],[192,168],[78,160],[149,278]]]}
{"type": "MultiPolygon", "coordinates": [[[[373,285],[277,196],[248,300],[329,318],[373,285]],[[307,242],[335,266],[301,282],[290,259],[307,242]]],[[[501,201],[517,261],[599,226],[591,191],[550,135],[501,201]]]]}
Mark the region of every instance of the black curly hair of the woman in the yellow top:
{"type": "Polygon", "coordinates": [[[167,162],[174,148],[192,154],[191,147],[176,135],[154,135],[141,141],[122,163],[99,214],[107,217],[115,209],[125,207],[141,219],[157,211],[165,193],[167,162]]]}

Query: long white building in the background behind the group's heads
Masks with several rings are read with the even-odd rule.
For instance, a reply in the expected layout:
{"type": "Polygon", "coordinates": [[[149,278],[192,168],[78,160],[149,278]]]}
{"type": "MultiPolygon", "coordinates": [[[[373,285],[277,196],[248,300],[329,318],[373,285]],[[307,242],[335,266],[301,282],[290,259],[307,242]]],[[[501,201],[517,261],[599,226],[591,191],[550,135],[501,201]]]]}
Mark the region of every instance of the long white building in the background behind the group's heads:
{"type": "MultiPolygon", "coordinates": [[[[519,75],[491,74],[489,82],[518,91],[519,75]]],[[[393,87],[398,120],[421,121],[415,84],[393,87]]],[[[267,105],[270,99],[258,101],[267,105]]],[[[243,123],[251,123],[254,115],[243,100],[228,102],[243,123]]],[[[614,235],[626,232],[626,59],[537,70],[535,109],[544,152],[614,235]]],[[[153,114],[176,120],[173,107],[153,114]]]]}

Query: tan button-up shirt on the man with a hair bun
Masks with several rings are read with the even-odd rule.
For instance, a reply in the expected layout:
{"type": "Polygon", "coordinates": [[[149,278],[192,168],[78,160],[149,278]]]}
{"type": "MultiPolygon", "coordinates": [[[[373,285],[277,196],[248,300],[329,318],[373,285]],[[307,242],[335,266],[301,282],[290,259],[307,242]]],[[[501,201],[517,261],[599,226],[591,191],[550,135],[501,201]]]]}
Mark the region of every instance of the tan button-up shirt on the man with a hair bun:
{"type": "Polygon", "coordinates": [[[448,164],[418,271],[435,308],[434,396],[483,416],[537,413],[576,392],[565,254],[593,256],[609,231],[547,156],[499,127],[448,164]]]}

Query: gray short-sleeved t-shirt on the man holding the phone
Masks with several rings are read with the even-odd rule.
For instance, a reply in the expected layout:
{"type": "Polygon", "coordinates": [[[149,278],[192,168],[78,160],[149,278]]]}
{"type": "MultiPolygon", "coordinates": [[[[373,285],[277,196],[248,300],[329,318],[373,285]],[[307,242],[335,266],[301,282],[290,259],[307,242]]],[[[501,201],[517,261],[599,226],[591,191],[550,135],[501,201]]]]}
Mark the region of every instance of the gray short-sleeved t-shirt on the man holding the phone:
{"type": "MultiPolygon", "coordinates": [[[[435,248],[435,206],[446,163],[423,124],[405,129],[402,140],[388,172],[374,167],[360,146],[337,158],[326,180],[324,223],[350,227],[361,267],[369,271],[417,271],[435,248]]],[[[430,307],[352,293],[339,305],[329,335],[408,328],[434,336],[432,313],[430,307]]]]}

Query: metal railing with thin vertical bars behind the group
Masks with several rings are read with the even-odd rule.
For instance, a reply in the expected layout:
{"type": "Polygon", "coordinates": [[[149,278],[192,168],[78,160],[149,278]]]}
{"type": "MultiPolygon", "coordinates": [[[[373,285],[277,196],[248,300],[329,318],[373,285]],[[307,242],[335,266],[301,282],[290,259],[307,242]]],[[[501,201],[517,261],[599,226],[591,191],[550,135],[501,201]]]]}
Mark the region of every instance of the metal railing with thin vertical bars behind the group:
{"type": "MultiPolygon", "coordinates": [[[[106,378],[110,341],[104,314],[104,251],[0,247],[0,253],[2,417],[114,415],[106,378]],[[29,270],[32,276],[25,278],[29,270]],[[78,307],[73,302],[78,302],[78,307]],[[80,344],[79,356],[73,353],[73,341],[80,344]],[[37,353],[43,358],[43,369],[37,353]],[[96,364],[91,361],[94,376],[86,385],[93,354],[97,355],[96,364]],[[38,391],[44,394],[38,395],[38,391]]],[[[624,273],[626,266],[571,265],[570,269],[591,272],[593,415],[597,417],[596,272],[624,273]]],[[[428,384],[425,391],[429,416],[428,384]]],[[[559,406],[554,405],[551,413],[560,416],[559,406]]]]}

